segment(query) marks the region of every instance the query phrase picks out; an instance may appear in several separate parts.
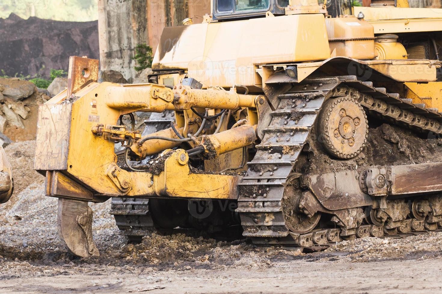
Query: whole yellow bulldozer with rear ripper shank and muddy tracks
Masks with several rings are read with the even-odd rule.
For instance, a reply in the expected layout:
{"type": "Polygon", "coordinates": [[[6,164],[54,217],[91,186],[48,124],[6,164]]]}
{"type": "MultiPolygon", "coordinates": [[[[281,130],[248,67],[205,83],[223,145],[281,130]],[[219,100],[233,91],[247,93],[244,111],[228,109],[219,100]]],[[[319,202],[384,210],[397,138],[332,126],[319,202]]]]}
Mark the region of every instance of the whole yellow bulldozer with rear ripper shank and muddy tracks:
{"type": "Polygon", "coordinates": [[[88,202],[110,198],[133,240],[189,230],[321,250],[442,228],[442,9],[211,9],[164,29],[149,83],[98,83],[98,60],[71,56],[68,88],[40,106],[34,168],[69,252],[99,254],[88,202]],[[133,112],[152,112],[145,133],[133,112]]]}

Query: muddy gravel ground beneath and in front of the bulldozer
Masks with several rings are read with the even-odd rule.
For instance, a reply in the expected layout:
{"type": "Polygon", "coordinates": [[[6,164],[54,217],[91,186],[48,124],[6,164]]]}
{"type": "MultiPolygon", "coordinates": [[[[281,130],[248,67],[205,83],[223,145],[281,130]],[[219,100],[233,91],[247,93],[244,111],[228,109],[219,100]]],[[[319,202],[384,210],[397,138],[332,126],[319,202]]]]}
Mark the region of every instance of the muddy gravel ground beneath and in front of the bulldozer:
{"type": "Polygon", "coordinates": [[[118,235],[110,202],[92,204],[101,256],[66,253],[57,199],[32,169],[34,143],[6,148],[15,195],[0,206],[1,293],[423,293],[442,291],[442,232],[345,241],[322,253],[258,248],[184,235],[118,235]]]}

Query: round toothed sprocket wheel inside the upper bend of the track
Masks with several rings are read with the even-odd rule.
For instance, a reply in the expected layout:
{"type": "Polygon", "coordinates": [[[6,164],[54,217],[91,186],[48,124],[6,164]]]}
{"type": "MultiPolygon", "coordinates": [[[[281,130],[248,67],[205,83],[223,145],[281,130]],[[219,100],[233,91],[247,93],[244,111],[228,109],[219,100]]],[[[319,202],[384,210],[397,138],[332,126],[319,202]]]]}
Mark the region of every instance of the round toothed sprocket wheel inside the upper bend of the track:
{"type": "Polygon", "coordinates": [[[364,108],[349,96],[329,99],[321,111],[320,135],[331,155],[342,159],[357,156],[368,137],[364,108]]]}

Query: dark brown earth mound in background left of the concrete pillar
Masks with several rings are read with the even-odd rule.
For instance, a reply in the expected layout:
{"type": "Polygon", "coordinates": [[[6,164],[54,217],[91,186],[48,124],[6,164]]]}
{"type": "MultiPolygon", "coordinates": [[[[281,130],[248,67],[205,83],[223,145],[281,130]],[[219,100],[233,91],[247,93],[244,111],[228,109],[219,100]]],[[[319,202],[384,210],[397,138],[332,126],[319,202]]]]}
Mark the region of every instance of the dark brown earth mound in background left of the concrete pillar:
{"type": "Polygon", "coordinates": [[[0,36],[0,69],[9,76],[33,76],[44,64],[48,78],[51,68],[67,70],[69,56],[99,58],[97,21],[21,19],[11,14],[0,19],[0,36]]]}

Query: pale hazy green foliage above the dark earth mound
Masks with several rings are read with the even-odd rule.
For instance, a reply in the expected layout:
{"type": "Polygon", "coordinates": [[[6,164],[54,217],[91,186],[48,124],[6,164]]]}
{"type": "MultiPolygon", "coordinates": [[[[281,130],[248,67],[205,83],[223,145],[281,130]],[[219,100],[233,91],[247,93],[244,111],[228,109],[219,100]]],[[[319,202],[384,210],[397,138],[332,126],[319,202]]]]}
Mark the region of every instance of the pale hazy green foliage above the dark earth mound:
{"type": "Polygon", "coordinates": [[[36,16],[71,22],[88,22],[98,19],[97,0],[1,0],[0,17],[15,13],[23,19],[36,16]]]}

